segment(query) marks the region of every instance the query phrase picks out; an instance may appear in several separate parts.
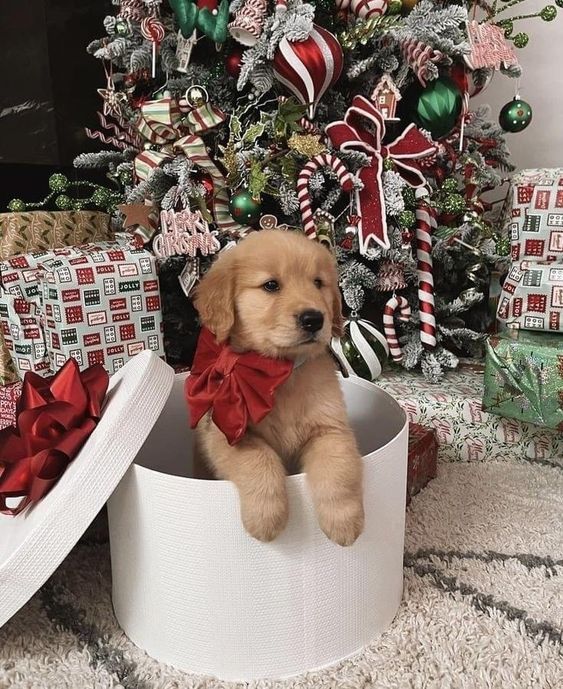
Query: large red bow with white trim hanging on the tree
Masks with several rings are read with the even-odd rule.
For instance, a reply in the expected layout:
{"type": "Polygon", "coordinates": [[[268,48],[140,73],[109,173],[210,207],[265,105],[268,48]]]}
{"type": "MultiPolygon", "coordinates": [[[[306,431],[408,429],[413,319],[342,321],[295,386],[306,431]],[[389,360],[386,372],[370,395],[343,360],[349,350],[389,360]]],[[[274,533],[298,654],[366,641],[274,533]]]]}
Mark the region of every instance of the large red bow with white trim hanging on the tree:
{"type": "Polygon", "coordinates": [[[384,249],[390,247],[383,197],[383,161],[390,158],[397,172],[412,187],[421,187],[426,179],[416,160],[432,155],[436,147],[416,128],[409,126],[390,144],[383,146],[385,120],[379,110],[363,96],[354,96],[344,120],[327,125],[325,132],[340,151],[362,151],[370,156],[370,163],[357,173],[364,187],[357,190],[356,204],[360,214],[358,239],[360,252],[365,253],[373,239],[384,249]],[[362,126],[368,120],[372,128],[362,126]]]}

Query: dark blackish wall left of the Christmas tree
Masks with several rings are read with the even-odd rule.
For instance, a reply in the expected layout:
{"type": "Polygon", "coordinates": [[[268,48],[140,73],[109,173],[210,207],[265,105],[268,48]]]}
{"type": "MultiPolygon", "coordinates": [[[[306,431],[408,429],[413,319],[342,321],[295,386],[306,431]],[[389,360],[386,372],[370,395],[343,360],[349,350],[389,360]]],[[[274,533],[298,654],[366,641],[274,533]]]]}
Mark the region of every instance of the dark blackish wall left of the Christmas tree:
{"type": "Polygon", "coordinates": [[[103,35],[110,0],[1,0],[0,211],[14,196],[39,199],[47,178],[97,149],[102,64],[86,46],[103,35]]]}

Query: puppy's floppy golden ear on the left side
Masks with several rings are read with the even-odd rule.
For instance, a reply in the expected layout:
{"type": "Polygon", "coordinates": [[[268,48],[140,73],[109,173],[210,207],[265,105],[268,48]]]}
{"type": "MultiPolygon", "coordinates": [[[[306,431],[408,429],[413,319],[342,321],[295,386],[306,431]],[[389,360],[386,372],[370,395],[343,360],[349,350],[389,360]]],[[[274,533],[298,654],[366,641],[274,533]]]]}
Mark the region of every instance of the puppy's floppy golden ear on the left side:
{"type": "Polygon", "coordinates": [[[224,342],[235,323],[235,270],[233,249],[220,256],[196,287],[194,306],[203,325],[224,342]]]}

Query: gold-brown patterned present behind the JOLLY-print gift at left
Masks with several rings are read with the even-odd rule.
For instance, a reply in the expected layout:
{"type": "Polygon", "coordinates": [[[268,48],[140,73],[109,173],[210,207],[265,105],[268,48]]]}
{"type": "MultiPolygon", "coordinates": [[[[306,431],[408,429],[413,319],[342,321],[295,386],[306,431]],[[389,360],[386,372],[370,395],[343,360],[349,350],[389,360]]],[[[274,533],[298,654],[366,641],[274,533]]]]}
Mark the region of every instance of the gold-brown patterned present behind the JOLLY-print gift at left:
{"type": "Polygon", "coordinates": [[[95,211],[0,213],[0,259],[113,239],[109,215],[95,211]]]}

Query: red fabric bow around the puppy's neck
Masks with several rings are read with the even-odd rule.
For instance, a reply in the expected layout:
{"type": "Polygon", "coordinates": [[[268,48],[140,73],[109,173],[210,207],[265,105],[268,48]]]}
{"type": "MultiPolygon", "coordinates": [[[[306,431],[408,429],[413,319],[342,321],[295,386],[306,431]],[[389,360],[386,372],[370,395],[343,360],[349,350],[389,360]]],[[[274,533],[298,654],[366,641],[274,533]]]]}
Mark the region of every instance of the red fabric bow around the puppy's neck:
{"type": "Polygon", "coordinates": [[[191,427],[213,409],[212,419],[229,445],[246,433],[249,419],[259,423],[274,406],[274,393],[293,370],[287,359],[270,359],[256,352],[239,354],[228,344],[220,345],[213,333],[203,328],[190,375],[186,399],[191,427]]]}

